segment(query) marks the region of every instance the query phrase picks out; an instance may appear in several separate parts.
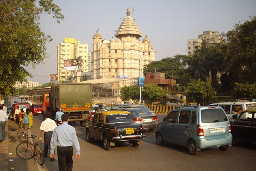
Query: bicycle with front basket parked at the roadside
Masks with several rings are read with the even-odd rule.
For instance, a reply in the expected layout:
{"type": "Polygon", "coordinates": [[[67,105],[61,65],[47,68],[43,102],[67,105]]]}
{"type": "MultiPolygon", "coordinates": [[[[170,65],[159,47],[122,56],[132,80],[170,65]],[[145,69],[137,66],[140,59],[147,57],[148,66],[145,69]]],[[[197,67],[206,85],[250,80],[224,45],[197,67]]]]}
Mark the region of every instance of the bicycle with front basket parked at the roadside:
{"type": "Polygon", "coordinates": [[[44,151],[40,144],[38,144],[35,140],[35,137],[37,136],[31,135],[31,137],[28,137],[27,131],[22,133],[23,135],[18,134],[18,136],[21,135],[20,138],[24,141],[24,143],[20,142],[20,144],[16,147],[16,154],[22,159],[31,159],[35,156],[38,164],[43,165],[45,162],[44,151]],[[26,136],[26,138],[23,138],[24,136],[26,136]],[[32,138],[33,143],[29,142],[28,138],[32,138]]]}

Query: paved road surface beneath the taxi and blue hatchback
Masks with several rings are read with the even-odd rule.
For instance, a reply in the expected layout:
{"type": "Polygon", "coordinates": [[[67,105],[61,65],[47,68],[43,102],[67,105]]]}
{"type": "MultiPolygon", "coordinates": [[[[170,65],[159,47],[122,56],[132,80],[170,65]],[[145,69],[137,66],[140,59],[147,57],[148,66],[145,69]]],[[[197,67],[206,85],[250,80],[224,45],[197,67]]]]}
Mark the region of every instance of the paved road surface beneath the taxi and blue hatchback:
{"type": "MultiPolygon", "coordinates": [[[[164,115],[158,115],[163,120],[164,115]]],[[[37,135],[39,140],[39,127],[42,115],[34,116],[34,126],[31,133],[37,135]]],[[[12,123],[15,125],[15,123],[12,123]]],[[[128,143],[112,147],[110,151],[102,148],[102,142],[86,142],[85,128],[80,124],[71,123],[81,147],[81,159],[73,156],[73,170],[255,170],[256,144],[239,142],[228,151],[210,148],[198,152],[196,156],[189,155],[187,148],[173,144],[158,146],[155,142],[154,132],[145,131],[146,138],[142,144],[134,148],[128,143]]],[[[20,130],[18,130],[20,131],[20,130]]],[[[9,130],[9,135],[15,137],[16,131],[9,130]]],[[[11,138],[12,139],[12,138],[11,138]]],[[[15,139],[15,138],[14,138],[15,139]]],[[[43,166],[38,165],[34,159],[23,160],[16,156],[15,148],[18,142],[11,143],[9,147],[9,170],[58,170],[58,158],[51,162],[46,159],[43,166]]],[[[43,144],[42,144],[43,147],[43,144]]]]}

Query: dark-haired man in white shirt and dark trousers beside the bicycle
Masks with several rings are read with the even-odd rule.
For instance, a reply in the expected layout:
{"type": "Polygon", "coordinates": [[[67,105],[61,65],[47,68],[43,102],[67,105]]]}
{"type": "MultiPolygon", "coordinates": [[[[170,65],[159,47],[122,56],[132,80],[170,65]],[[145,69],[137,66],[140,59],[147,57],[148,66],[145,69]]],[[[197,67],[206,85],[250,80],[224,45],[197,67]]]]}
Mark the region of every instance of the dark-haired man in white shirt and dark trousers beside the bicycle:
{"type": "MultiPolygon", "coordinates": [[[[47,158],[48,155],[48,148],[49,152],[51,150],[50,142],[53,135],[53,130],[56,128],[56,123],[54,120],[50,119],[51,112],[46,111],[45,117],[46,119],[41,123],[40,125],[40,142],[43,143],[43,134],[44,134],[44,154],[45,158],[47,158]]],[[[54,153],[54,148],[53,148],[54,153]]],[[[54,157],[50,158],[51,161],[54,161],[54,157]]]]}

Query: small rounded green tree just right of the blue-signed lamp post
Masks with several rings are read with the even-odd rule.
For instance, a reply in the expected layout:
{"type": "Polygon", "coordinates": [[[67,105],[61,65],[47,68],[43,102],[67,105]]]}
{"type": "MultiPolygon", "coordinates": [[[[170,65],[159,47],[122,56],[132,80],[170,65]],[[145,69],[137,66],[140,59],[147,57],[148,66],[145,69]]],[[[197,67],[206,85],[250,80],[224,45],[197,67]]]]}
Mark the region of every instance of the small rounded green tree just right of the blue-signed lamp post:
{"type": "Polygon", "coordinates": [[[143,87],[143,99],[147,101],[147,103],[152,103],[155,101],[165,101],[165,92],[161,90],[161,88],[154,83],[146,84],[143,87]]]}

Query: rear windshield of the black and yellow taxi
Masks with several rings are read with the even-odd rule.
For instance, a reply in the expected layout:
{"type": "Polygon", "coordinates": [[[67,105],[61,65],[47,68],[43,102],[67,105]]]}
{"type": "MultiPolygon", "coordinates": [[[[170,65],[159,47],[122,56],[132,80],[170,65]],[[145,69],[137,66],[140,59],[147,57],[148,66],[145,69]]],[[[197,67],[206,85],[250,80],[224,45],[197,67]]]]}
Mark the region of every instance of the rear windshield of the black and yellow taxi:
{"type": "Polygon", "coordinates": [[[134,122],[130,114],[112,114],[106,116],[106,123],[134,122]]]}

